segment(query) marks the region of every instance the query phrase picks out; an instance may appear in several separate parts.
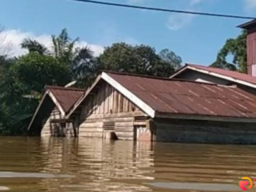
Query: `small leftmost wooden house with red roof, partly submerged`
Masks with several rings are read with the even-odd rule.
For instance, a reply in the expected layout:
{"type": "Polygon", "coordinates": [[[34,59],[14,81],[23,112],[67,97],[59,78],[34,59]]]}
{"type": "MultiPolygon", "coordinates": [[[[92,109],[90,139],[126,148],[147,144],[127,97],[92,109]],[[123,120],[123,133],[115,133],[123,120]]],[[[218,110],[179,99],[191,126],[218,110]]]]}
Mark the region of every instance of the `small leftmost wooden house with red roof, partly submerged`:
{"type": "Polygon", "coordinates": [[[30,135],[77,136],[75,122],[65,119],[85,90],[46,86],[42,100],[28,126],[30,135]]]}

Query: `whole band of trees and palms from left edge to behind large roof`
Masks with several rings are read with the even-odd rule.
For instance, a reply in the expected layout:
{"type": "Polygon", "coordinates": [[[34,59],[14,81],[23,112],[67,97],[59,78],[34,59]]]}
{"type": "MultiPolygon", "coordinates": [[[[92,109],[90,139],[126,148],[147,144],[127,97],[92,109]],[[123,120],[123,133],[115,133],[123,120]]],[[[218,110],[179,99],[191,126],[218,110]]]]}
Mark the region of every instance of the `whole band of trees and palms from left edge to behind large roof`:
{"type": "MultiPolygon", "coordinates": [[[[21,47],[28,53],[18,58],[0,55],[0,134],[26,134],[28,123],[46,84],[64,86],[71,81],[88,87],[100,70],[169,76],[181,59],[164,49],[159,54],[146,45],[116,43],[94,57],[88,47],[76,47],[66,29],[52,36],[48,48],[27,38],[21,47]]],[[[0,44],[1,48],[1,44],[0,44]]]]}

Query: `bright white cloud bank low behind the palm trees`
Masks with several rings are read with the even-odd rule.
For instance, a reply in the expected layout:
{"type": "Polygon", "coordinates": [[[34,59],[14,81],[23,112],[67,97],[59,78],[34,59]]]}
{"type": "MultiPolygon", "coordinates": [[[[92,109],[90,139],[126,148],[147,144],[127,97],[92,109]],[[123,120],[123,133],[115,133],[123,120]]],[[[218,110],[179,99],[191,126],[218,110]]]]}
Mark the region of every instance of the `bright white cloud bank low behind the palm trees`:
{"type": "MultiPolygon", "coordinates": [[[[20,56],[22,54],[27,53],[26,49],[22,49],[20,47],[20,43],[24,38],[32,38],[37,40],[39,43],[44,44],[46,47],[51,48],[51,35],[44,34],[44,35],[35,35],[32,32],[22,32],[17,29],[6,30],[3,32],[4,36],[4,44],[3,46],[9,47],[10,52],[9,56],[20,56]]],[[[94,52],[95,56],[100,55],[104,51],[104,47],[97,44],[89,44],[85,41],[81,41],[77,43],[77,46],[88,46],[94,52]]]]}

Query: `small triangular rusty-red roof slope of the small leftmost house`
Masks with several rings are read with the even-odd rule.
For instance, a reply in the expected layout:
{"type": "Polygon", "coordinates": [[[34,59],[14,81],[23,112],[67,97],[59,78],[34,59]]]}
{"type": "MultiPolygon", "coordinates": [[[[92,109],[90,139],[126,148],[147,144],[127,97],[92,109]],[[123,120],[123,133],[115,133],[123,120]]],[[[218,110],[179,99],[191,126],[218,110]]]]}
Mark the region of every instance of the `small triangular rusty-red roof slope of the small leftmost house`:
{"type": "Polygon", "coordinates": [[[66,113],[85,92],[84,89],[71,87],[46,86],[46,88],[52,92],[66,113]]]}

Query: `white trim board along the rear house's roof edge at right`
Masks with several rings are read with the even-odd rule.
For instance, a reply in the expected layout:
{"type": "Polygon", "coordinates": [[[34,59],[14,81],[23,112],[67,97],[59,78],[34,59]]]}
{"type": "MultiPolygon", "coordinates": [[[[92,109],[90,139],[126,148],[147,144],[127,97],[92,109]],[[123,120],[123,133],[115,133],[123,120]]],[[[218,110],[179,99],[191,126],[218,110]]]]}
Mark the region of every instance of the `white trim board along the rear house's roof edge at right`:
{"type": "Polygon", "coordinates": [[[170,78],[175,78],[175,76],[182,73],[186,69],[191,69],[191,70],[194,70],[194,71],[197,71],[197,72],[200,72],[200,73],[204,73],[204,74],[208,74],[208,75],[211,75],[211,76],[219,77],[219,78],[222,78],[222,79],[226,79],[228,81],[232,81],[232,82],[242,84],[242,85],[245,85],[245,86],[249,86],[249,87],[252,87],[252,88],[256,89],[256,84],[252,84],[252,83],[249,83],[247,81],[239,80],[239,79],[236,79],[236,78],[233,78],[233,77],[230,77],[230,76],[221,75],[219,73],[210,72],[210,71],[207,71],[207,70],[204,70],[204,69],[198,69],[196,67],[192,67],[192,66],[189,66],[189,65],[180,69],[176,73],[174,73],[172,76],[170,76],[170,78]]]}

